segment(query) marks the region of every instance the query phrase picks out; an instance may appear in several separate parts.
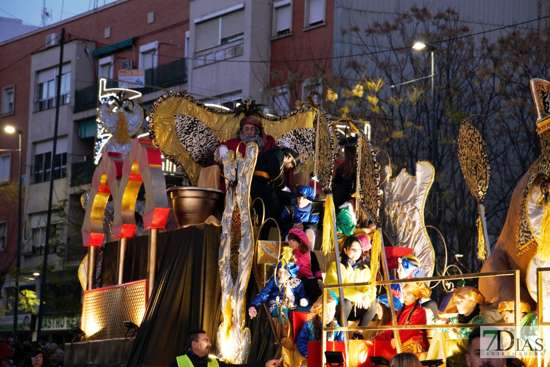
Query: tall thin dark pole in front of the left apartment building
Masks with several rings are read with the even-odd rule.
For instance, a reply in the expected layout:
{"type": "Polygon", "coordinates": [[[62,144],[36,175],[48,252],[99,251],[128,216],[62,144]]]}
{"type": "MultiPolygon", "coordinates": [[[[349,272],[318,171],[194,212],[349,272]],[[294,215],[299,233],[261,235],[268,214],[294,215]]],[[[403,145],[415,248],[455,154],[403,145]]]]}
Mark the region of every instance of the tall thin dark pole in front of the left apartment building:
{"type": "MultiPolygon", "coordinates": [[[[42,332],[42,316],[44,313],[44,296],[46,293],[46,273],[48,268],[48,252],[50,252],[50,232],[52,225],[52,200],[53,200],[53,180],[55,173],[56,151],[57,151],[57,130],[59,126],[59,103],[61,102],[61,78],[63,76],[63,47],[65,46],[65,29],[61,29],[61,40],[59,40],[59,76],[57,78],[56,92],[56,122],[53,130],[53,149],[52,162],[50,170],[50,199],[48,200],[48,219],[46,220],[46,244],[44,245],[44,263],[42,265],[42,284],[40,286],[40,306],[38,307],[38,325],[36,328],[36,339],[40,340],[42,332]]],[[[61,174],[61,165],[59,166],[59,174],[61,174]]]]}

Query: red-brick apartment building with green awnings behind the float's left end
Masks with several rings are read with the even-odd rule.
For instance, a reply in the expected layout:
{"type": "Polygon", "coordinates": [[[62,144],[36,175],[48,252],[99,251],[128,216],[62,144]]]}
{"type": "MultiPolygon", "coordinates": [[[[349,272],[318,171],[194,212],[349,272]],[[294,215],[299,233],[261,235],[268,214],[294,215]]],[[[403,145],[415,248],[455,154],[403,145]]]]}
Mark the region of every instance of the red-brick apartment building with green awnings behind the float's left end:
{"type": "MultiPolygon", "coordinates": [[[[24,205],[21,243],[20,289],[41,297],[40,282],[45,248],[46,215],[50,177],[54,177],[53,216],[47,274],[45,333],[62,339],[80,314],[81,288],[76,268],[86,254],[80,235],[84,210],[80,197],[90,189],[97,162],[96,108],[98,79],[118,84],[119,70],[141,69],[145,85],[138,101],[146,110],[168,90],[185,90],[186,35],[189,31],[189,1],[119,0],[59,23],[0,43],[2,114],[0,126],[23,131],[24,205]],[[59,70],[59,36],[65,29],[63,66],[59,70]],[[56,157],[51,166],[57,83],[61,84],[56,157]],[[64,304],[63,304],[64,302],[64,304]],[[60,326],[61,325],[61,326],[60,326]]],[[[138,135],[147,131],[144,120],[138,135]]],[[[0,181],[17,188],[19,162],[17,136],[2,134],[0,181]],[[9,184],[11,182],[11,184],[9,184]]],[[[16,134],[17,135],[17,134],[16,134]]],[[[179,171],[165,162],[167,182],[181,182],[179,171]]],[[[12,190],[13,191],[13,190],[12,190]]],[[[17,197],[17,195],[16,195],[17,197]]],[[[0,334],[13,325],[14,279],[17,249],[17,201],[0,190],[0,278],[2,305],[0,334]],[[5,317],[2,317],[5,316],[5,317]],[[10,318],[11,316],[11,318],[10,318]]],[[[35,316],[23,313],[19,330],[35,330],[35,316]]]]}

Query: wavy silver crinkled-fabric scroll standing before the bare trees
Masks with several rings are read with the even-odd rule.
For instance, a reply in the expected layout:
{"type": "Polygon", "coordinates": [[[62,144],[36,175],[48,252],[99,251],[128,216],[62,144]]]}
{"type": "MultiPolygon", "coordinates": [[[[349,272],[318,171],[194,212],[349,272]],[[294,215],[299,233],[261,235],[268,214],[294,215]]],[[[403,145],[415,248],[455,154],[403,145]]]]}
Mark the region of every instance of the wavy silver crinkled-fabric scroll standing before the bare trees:
{"type": "Polygon", "coordinates": [[[380,185],[383,191],[382,228],[393,246],[412,248],[420,269],[432,276],[435,254],[424,223],[424,207],[433,184],[434,169],[430,162],[416,163],[416,176],[405,169],[393,178],[389,166],[383,166],[380,185]]]}

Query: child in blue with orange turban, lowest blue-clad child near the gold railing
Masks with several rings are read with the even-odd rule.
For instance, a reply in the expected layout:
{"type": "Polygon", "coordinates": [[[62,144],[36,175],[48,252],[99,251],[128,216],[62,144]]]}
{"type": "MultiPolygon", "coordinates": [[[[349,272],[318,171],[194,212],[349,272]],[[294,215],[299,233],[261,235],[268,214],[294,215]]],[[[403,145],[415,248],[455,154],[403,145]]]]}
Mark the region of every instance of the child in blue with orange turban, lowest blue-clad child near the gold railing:
{"type": "MultiPolygon", "coordinates": [[[[338,301],[333,297],[327,297],[326,311],[324,312],[324,319],[327,320],[327,327],[340,327],[338,322],[334,318],[336,313],[336,305],[338,301]]],[[[307,342],[320,341],[321,340],[321,324],[322,324],[322,312],[323,312],[323,299],[318,299],[313,303],[311,312],[317,313],[313,319],[307,321],[302,327],[298,340],[296,340],[296,348],[300,354],[307,358],[307,342]]],[[[331,331],[327,332],[327,341],[329,342],[343,342],[343,331],[331,331]]]]}

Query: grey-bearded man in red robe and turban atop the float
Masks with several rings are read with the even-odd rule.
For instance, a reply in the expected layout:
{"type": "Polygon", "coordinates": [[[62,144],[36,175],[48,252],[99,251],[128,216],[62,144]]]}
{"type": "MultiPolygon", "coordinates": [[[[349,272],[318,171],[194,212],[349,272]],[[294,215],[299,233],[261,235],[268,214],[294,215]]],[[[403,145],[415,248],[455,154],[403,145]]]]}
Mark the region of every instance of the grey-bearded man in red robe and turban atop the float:
{"type": "Polygon", "coordinates": [[[239,147],[239,152],[243,155],[246,153],[246,143],[256,143],[258,146],[258,155],[262,154],[269,148],[289,148],[290,144],[287,141],[275,139],[271,135],[266,135],[263,131],[262,121],[254,116],[245,116],[240,120],[239,131],[237,137],[229,139],[219,144],[219,147],[214,152],[214,160],[216,163],[222,164],[223,158],[229,150],[236,151],[239,147]],[[244,144],[240,144],[244,142],[244,144]]]}

